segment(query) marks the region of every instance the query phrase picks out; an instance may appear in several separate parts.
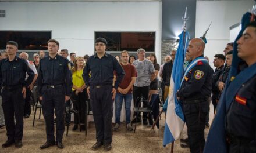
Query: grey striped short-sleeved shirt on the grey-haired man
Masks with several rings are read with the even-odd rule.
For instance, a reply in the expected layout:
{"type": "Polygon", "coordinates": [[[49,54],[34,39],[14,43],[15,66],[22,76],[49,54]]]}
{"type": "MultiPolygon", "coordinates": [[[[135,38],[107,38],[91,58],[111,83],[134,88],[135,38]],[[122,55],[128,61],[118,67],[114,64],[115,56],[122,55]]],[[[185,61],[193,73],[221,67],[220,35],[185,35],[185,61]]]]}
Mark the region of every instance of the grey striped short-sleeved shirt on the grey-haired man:
{"type": "Polygon", "coordinates": [[[133,65],[137,70],[137,78],[134,86],[149,86],[151,82],[151,74],[155,72],[155,68],[152,62],[147,59],[143,61],[136,60],[133,62],[133,65]]]}

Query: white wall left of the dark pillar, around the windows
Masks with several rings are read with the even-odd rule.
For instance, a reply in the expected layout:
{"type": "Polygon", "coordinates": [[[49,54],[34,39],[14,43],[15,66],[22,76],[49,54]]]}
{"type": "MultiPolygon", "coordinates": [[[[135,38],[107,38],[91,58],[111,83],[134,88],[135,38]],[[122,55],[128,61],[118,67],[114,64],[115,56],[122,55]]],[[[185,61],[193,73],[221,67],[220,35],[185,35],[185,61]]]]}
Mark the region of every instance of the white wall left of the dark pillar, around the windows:
{"type": "Polygon", "coordinates": [[[161,58],[162,2],[0,2],[0,30],[51,30],[60,48],[94,53],[94,31],[155,31],[161,58]]]}

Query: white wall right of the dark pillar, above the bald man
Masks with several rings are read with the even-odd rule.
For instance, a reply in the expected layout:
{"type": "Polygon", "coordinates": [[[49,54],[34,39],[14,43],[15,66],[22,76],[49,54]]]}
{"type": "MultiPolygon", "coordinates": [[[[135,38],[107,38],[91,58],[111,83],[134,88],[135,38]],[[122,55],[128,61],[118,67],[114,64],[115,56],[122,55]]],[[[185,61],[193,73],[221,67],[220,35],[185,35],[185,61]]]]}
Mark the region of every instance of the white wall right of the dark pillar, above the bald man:
{"type": "Polygon", "coordinates": [[[205,47],[205,56],[209,57],[212,67],[214,55],[223,53],[226,44],[233,41],[229,38],[229,27],[239,23],[243,14],[251,9],[253,4],[253,0],[197,1],[195,37],[201,37],[212,21],[205,47]]]}

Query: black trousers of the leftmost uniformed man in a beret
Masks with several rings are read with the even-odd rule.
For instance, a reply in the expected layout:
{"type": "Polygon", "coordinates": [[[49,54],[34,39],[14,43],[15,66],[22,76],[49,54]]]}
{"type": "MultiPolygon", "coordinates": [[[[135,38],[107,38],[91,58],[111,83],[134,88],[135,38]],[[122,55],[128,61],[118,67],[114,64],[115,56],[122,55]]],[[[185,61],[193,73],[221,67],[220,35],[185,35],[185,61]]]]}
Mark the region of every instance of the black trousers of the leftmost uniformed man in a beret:
{"type": "Polygon", "coordinates": [[[22,140],[24,99],[21,86],[16,89],[2,89],[2,107],[8,140],[22,140]]]}

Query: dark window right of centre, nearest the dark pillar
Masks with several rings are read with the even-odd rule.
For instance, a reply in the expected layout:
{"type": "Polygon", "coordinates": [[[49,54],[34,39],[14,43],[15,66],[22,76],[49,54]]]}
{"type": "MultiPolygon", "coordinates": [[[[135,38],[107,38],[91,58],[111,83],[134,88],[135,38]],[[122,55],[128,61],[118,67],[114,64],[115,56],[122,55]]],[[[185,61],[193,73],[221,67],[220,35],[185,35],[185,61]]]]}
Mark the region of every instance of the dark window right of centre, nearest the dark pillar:
{"type": "Polygon", "coordinates": [[[136,52],[143,48],[147,52],[155,52],[155,32],[95,32],[95,38],[99,37],[108,42],[106,51],[136,52]]]}

